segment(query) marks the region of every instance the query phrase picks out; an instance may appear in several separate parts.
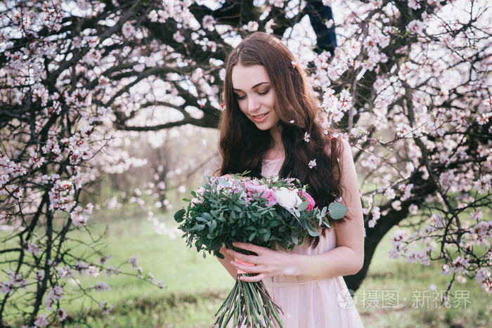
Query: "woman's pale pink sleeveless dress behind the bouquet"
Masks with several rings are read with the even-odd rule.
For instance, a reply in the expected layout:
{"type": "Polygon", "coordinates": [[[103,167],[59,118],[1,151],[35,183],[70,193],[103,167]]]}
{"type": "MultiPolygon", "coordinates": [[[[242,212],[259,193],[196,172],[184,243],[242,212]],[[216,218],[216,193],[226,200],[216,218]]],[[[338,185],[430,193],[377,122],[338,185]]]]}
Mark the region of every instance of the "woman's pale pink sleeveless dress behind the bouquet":
{"type": "MultiPolygon", "coordinates": [[[[265,160],[261,176],[278,174],[283,158],[265,160]]],[[[328,230],[316,248],[294,247],[296,254],[322,254],[337,247],[337,236],[328,230]]],[[[299,281],[297,277],[276,276],[263,280],[280,313],[285,328],[363,327],[342,277],[299,281]]]]}

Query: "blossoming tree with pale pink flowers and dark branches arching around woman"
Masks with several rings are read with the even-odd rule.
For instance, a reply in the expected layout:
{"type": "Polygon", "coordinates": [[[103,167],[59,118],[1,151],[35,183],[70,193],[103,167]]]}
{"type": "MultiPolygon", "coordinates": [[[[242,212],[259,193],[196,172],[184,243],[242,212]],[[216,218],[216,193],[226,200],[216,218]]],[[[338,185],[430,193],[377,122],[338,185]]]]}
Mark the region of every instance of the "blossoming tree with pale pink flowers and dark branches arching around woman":
{"type": "MultiPolygon", "coordinates": [[[[226,54],[256,30],[284,37],[299,55],[295,65],[311,72],[321,124],[335,122],[354,145],[364,181],[366,261],[346,277],[349,287],[365,277],[382,237],[406,222],[412,229],[394,235],[391,257],[441,261],[448,291],[461,275],[490,292],[492,9],[486,2],[1,4],[0,224],[9,233],[0,250],[1,268],[8,268],[0,322],[64,321],[67,277],[119,272],[104,254],[93,262],[65,247],[91,215],[83,192],[96,177],[101,150],[115,129],[216,127],[226,54]],[[26,306],[17,305],[24,294],[26,306]]],[[[135,259],[132,265],[138,267],[135,259]]],[[[78,293],[90,297],[105,288],[78,293]]]]}

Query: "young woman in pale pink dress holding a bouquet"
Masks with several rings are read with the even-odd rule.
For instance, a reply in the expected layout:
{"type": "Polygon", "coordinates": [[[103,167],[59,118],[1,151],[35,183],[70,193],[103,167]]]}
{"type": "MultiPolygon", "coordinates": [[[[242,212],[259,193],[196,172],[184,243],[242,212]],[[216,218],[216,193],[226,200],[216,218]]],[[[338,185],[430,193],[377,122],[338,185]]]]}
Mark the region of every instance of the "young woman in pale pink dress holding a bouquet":
{"type": "Polygon", "coordinates": [[[256,32],[228,56],[224,80],[226,110],[221,117],[220,173],[251,171],[299,178],[317,206],[342,197],[348,206],[342,222],[332,222],[287,252],[253,244],[235,247],[255,255],[222,249],[221,261],[235,278],[237,270],[256,273],[241,280],[263,280],[283,310],[285,328],[361,327],[343,275],[363,265],[363,215],[354,161],[347,142],[321,129],[306,74],[275,37],[256,32]],[[235,258],[251,265],[240,264],[235,258]],[[349,297],[349,296],[348,296],[349,297]],[[347,303],[349,301],[349,303],[347,303]]]}

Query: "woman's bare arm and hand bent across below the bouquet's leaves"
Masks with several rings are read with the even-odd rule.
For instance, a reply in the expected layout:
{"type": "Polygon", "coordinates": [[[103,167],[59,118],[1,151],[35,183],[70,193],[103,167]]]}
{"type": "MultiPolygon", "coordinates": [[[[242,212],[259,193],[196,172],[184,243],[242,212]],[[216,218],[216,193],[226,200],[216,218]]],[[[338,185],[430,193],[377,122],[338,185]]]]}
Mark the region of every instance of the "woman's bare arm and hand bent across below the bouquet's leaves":
{"type": "MultiPolygon", "coordinates": [[[[259,273],[254,277],[241,277],[245,281],[259,281],[273,275],[295,275],[299,280],[320,280],[342,275],[354,275],[361,270],[364,258],[364,225],[361,199],[358,192],[357,174],[350,146],[343,143],[342,158],[342,199],[349,208],[349,220],[335,224],[337,247],[323,254],[302,255],[276,251],[252,244],[235,243],[235,247],[254,251],[258,256],[247,256],[232,249],[227,253],[231,258],[254,263],[248,267],[232,261],[229,265],[247,273],[259,273]]],[[[225,265],[224,265],[225,266],[225,265]]],[[[226,267],[227,268],[227,267],[226,267]]],[[[231,271],[229,271],[231,272],[231,271]]]]}

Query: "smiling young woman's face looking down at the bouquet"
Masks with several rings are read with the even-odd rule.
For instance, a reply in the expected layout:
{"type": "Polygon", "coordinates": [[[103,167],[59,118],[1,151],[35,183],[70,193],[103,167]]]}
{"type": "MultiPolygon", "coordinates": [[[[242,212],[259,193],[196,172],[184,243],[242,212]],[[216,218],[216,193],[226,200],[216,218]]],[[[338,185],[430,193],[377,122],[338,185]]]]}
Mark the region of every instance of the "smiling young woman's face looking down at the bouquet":
{"type": "Polygon", "coordinates": [[[279,119],[273,110],[275,92],[265,67],[235,65],[232,82],[241,112],[260,130],[276,128],[279,119]]]}

